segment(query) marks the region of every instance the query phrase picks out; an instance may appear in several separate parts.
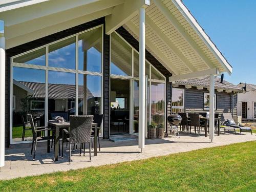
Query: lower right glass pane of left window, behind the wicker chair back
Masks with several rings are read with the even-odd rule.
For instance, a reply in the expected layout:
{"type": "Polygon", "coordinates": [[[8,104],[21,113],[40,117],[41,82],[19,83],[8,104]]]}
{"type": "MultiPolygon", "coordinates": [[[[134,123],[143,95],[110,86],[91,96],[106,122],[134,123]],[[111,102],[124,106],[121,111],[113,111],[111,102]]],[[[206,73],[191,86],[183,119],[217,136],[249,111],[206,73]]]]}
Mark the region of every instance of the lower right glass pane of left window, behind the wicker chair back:
{"type": "Polygon", "coordinates": [[[101,114],[101,76],[78,75],[78,115],[101,114]]]}

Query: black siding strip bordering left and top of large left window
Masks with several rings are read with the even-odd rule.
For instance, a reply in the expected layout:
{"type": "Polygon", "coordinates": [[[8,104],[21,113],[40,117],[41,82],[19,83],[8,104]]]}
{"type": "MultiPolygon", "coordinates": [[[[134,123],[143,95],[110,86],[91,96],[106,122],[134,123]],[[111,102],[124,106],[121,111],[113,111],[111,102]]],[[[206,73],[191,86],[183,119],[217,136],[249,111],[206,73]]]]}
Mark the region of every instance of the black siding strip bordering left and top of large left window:
{"type": "Polygon", "coordinates": [[[17,54],[44,46],[50,42],[99,26],[101,24],[104,24],[104,17],[6,50],[5,143],[7,147],[10,144],[10,58],[17,54]]]}

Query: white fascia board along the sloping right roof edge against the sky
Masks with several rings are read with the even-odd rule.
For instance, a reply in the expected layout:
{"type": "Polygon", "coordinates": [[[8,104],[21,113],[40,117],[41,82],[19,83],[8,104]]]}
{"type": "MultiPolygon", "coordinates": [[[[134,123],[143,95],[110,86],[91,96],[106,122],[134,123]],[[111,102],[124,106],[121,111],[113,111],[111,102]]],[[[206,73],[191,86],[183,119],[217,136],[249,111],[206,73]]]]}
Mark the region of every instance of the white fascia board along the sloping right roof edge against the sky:
{"type": "Polygon", "coordinates": [[[197,23],[195,17],[189,12],[186,6],[181,2],[181,0],[172,0],[174,5],[179,9],[181,14],[186,18],[187,22],[193,27],[197,34],[204,41],[205,45],[211,50],[215,57],[219,60],[223,68],[230,75],[232,73],[232,67],[221,54],[221,52],[216,48],[214,43],[210,40],[209,36],[205,33],[202,27],[197,23]]]}

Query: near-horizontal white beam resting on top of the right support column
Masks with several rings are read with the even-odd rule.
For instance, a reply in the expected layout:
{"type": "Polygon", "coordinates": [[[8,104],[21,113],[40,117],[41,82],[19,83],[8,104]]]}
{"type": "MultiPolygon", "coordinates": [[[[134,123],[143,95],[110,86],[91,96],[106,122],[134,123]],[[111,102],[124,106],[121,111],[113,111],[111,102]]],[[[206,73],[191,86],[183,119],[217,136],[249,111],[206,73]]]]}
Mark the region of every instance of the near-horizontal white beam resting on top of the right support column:
{"type": "Polygon", "coordinates": [[[219,75],[219,74],[220,74],[220,72],[219,72],[218,68],[212,68],[212,69],[207,69],[207,70],[203,70],[203,71],[172,76],[172,77],[169,77],[169,82],[175,82],[175,81],[183,80],[183,79],[197,78],[197,77],[202,77],[205,75],[219,75]]]}

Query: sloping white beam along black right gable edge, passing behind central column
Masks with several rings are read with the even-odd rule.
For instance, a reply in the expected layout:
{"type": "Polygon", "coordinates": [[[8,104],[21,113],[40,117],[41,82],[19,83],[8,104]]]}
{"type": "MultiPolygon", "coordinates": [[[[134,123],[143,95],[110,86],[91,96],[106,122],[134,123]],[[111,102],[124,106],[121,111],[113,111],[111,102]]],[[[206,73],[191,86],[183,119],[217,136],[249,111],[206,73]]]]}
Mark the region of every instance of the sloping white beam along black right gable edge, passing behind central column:
{"type": "MultiPolygon", "coordinates": [[[[131,21],[127,22],[126,26],[129,27],[135,33],[135,35],[139,36],[139,29],[131,21]]],[[[174,72],[175,75],[180,74],[180,71],[172,64],[172,62],[167,59],[166,56],[159,51],[158,48],[147,37],[145,37],[145,42],[146,46],[150,48],[165,63],[165,65],[174,72]]]]}

